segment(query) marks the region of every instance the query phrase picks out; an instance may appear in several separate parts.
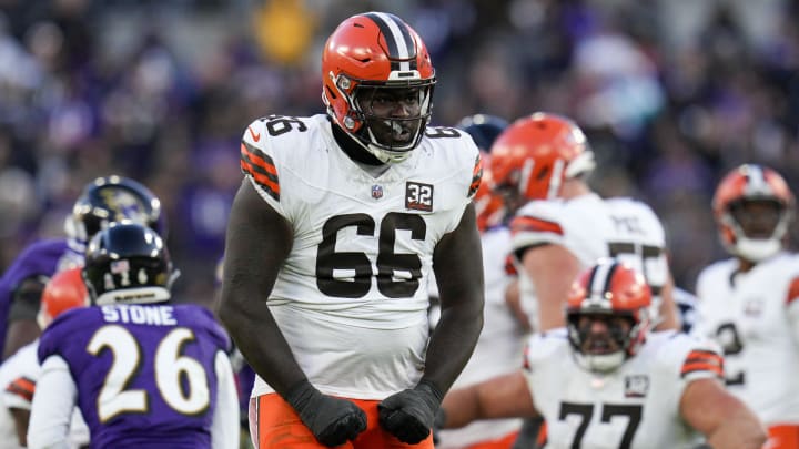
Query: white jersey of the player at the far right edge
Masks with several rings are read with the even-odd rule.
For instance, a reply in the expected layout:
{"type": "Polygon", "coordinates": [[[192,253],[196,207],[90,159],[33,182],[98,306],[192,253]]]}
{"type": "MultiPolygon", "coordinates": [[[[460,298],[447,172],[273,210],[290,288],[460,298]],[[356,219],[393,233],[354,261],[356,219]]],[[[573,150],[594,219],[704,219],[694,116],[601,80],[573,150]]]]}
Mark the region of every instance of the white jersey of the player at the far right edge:
{"type": "Polygon", "coordinates": [[[781,253],[738,273],[738,262],[717,262],[697,283],[694,333],[725,351],[727,389],[766,425],[799,424],[799,257],[781,253]],[[793,286],[793,288],[791,288],[793,286]]]}

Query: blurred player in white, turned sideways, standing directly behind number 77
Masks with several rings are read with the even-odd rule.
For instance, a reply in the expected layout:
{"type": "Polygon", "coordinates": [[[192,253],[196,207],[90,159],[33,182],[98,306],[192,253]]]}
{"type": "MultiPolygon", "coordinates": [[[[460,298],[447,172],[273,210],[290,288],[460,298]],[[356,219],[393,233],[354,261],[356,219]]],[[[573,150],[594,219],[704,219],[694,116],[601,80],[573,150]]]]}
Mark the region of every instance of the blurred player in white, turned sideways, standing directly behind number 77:
{"type": "Polygon", "coordinates": [[[678,327],[660,222],[644,203],[605,201],[590,188],[594,156],[572,120],[543,112],[518,119],[490,153],[496,188],[516,210],[513,248],[526,275],[519,276],[522,308],[534,330],[564,325],[563,298],[572,280],[606,256],[645,273],[656,289],[658,329],[678,327]]]}

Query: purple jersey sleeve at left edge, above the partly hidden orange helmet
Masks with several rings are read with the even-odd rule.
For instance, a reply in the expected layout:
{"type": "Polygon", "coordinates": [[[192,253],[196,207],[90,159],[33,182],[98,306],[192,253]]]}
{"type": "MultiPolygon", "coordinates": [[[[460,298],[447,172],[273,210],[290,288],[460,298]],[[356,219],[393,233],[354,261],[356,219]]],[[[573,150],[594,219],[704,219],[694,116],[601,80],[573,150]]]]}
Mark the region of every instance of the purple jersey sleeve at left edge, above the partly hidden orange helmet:
{"type": "Polygon", "coordinates": [[[0,353],[6,347],[11,296],[19,284],[31,276],[50,277],[67,251],[65,238],[48,238],[26,247],[0,278],[0,353]]]}

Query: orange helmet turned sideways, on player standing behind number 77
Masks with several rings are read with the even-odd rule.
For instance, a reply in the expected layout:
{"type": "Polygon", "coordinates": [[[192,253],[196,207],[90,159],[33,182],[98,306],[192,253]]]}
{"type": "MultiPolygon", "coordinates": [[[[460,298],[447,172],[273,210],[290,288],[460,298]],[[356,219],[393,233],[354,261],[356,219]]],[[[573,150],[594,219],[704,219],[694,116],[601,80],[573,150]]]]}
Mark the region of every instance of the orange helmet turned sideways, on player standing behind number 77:
{"type": "Polygon", "coordinates": [[[565,180],[595,165],[583,131],[562,115],[544,112],[516,120],[490,153],[495,185],[528,201],[557,197],[565,180]]]}

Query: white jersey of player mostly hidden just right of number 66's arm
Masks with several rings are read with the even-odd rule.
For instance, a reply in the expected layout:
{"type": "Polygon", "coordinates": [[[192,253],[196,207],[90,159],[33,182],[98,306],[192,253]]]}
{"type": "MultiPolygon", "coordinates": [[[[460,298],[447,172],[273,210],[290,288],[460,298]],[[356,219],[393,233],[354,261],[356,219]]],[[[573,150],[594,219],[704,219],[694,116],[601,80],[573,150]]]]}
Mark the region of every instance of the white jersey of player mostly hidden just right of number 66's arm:
{"type": "MultiPolygon", "coordinates": [[[[513,373],[523,363],[524,331],[505,303],[505,290],[510,283],[505,271],[507,254],[510,252],[510,232],[507,227],[489,228],[482,234],[481,243],[486,287],[483,310],[485,322],[472,358],[453,388],[513,373]]],[[[439,431],[436,449],[466,448],[479,441],[502,438],[520,427],[520,419],[474,421],[459,429],[439,431]]]]}

